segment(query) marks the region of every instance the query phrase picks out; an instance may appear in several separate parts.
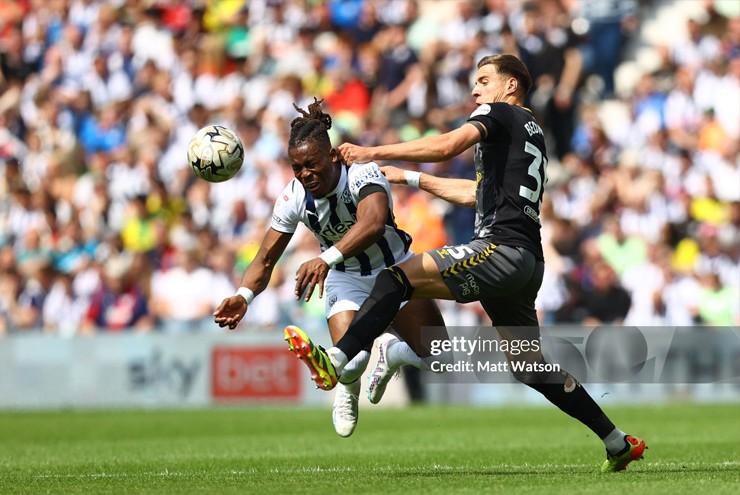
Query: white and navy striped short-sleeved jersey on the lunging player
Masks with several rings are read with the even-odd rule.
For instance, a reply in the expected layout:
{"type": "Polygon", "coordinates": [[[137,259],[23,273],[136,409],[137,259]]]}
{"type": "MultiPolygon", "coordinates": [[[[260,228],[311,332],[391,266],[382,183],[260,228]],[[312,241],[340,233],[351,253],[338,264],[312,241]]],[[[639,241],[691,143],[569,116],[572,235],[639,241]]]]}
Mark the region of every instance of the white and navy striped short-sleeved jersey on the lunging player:
{"type": "Polygon", "coordinates": [[[349,170],[342,166],[339,184],[323,198],[314,198],[298,179],[293,179],[275,202],[270,227],[292,234],[303,223],[319,240],[321,250],[326,250],[355,224],[360,191],[371,184],[381,186],[388,194],[385,234],[364,252],[345,259],[335,268],[362,276],[375,275],[400,261],[411,245],[411,236],[396,226],[390,184],[375,163],[355,163],[349,170]]]}

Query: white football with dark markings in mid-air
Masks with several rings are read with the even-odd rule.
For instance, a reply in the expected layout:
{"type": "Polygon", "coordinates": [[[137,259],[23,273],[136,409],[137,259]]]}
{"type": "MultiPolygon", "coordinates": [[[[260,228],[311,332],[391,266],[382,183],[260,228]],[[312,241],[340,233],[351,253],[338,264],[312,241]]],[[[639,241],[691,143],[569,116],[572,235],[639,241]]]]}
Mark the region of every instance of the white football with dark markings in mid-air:
{"type": "Polygon", "coordinates": [[[234,131],[221,125],[200,129],[188,144],[188,162],[208,182],[231,179],[244,162],[244,146],[234,131]]]}

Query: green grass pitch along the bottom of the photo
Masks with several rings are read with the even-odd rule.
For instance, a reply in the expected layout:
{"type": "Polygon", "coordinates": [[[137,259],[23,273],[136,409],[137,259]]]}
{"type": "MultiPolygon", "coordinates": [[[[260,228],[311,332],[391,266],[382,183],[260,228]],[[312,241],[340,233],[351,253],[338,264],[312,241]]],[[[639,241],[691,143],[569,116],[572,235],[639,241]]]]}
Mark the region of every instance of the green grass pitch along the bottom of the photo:
{"type": "Polygon", "coordinates": [[[0,414],[0,493],[737,493],[740,406],[609,408],[645,460],[602,475],[601,442],[554,408],[0,414]]]}

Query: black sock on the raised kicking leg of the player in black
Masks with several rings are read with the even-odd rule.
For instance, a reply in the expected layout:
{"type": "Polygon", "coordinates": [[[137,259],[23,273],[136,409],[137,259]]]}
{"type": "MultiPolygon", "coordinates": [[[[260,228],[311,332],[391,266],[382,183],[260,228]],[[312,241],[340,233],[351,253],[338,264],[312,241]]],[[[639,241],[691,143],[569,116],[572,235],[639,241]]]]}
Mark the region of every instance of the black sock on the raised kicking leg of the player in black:
{"type": "Polygon", "coordinates": [[[378,274],[373,290],[360,306],[347,333],[336,344],[348,361],[388,328],[401,303],[411,299],[413,291],[406,274],[397,266],[386,268],[378,274]]]}

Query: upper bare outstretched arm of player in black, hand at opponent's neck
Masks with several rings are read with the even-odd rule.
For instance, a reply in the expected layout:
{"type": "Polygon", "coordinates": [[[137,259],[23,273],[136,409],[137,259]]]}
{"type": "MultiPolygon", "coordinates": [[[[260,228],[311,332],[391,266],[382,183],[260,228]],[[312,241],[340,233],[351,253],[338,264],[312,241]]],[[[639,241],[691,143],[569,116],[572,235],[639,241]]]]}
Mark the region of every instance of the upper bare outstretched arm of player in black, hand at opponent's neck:
{"type": "Polygon", "coordinates": [[[407,162],[443,162],[459,155],[481,140],[477,126],[466,122],[454,131],[427,136],[405,143],[364,147],[343,143],[337,148],[345,163],[367,163],[373,160],[407,162]]]}

